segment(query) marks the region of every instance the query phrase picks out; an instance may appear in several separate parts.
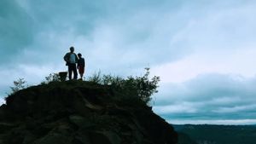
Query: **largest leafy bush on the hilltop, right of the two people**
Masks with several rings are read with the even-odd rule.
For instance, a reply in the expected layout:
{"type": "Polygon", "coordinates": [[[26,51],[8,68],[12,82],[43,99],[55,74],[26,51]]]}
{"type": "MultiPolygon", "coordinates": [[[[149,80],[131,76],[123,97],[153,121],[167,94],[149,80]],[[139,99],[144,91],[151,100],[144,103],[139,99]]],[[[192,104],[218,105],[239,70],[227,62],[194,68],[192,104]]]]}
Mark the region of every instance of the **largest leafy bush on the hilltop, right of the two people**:
{"type": "MultiPolygon", "coordinates": [[[[121,78],[119,76],[103,75],[101,72],[97,72],[89,78],[90,82],[97,84],[109,85],[113,88],[113,91],[117,95],[129,96],[129,100],[134,98],[133,96],[139,97],[145,103],[151,100],[151,95],[157,93],[158,83],[160,77],[154,76],[149,78],[149,68],[145,68],[146,72],[143,77],[132,77],[121,78]]],[[[127,99],[127,100],[128,100],[127,99]]],[[[136,100],[136,99],[135,99],[136,100]]]]}

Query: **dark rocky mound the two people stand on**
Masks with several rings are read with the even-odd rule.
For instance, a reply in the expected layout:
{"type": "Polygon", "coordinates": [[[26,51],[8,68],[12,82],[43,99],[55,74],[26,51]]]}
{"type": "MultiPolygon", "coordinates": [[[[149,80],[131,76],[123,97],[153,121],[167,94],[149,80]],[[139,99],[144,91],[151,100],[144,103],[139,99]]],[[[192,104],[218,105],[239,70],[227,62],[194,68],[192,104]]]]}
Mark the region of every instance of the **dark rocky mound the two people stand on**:
{"type": "Polygon", "coordinates": [[[22,89],[0,107],[0,144],[177,143],[150,107],[126,100],[111,86],[79,81],[22,89]]]}

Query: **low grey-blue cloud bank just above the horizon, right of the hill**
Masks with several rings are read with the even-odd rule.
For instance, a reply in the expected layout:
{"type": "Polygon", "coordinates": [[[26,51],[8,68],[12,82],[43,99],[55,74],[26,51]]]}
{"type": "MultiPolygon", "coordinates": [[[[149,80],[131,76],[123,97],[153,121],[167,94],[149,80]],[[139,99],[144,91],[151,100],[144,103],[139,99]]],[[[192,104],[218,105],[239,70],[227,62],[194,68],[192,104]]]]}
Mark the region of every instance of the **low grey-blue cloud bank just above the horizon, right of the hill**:
{"type": "MultiPolygon", "coordinates": [[[[256,78],[221,74],[199,75],[182,84],[165,84],[154,96],[154,111],[171,123],[179,119],[256,122],[256,78]]],[[[183,123],[183,122],[180,122],[183,123]]]]}

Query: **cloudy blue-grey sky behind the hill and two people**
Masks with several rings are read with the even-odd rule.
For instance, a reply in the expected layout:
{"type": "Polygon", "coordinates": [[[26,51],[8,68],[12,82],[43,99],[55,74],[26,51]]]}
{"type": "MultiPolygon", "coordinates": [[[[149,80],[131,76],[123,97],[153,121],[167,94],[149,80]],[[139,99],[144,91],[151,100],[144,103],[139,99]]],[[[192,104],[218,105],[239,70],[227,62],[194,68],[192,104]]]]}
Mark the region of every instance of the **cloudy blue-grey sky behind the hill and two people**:
{"type": "Polygon", "coordinates": [[[0,103],[18,78],[67,71],[73,46],[95,72],[160,76],[171,124],[256,124],[254,0],[1,0],[0,103]]]}

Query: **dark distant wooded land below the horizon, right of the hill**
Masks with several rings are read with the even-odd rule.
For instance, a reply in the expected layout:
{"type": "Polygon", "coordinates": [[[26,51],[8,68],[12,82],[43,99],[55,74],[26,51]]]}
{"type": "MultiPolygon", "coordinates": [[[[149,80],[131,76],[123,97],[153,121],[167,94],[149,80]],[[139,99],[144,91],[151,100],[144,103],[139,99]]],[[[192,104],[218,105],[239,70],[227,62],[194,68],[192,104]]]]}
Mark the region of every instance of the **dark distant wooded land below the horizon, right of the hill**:
{"type": "Polygon", "coordinates": [[[173,125],[178,144],[255,144],[256,125],[173,125]]]}

